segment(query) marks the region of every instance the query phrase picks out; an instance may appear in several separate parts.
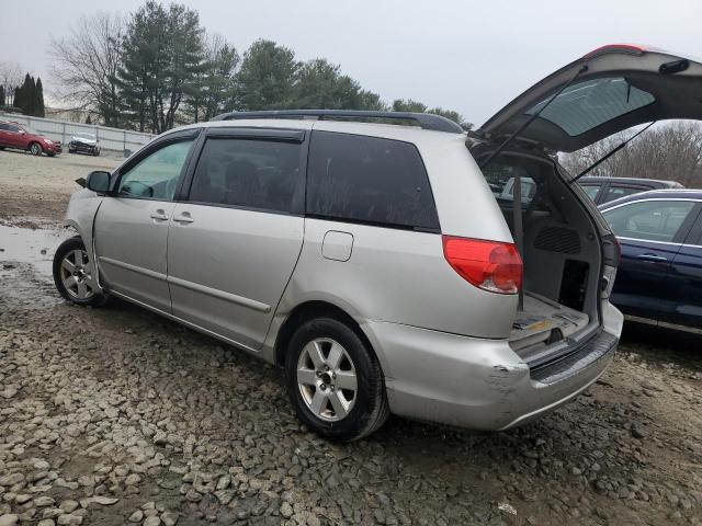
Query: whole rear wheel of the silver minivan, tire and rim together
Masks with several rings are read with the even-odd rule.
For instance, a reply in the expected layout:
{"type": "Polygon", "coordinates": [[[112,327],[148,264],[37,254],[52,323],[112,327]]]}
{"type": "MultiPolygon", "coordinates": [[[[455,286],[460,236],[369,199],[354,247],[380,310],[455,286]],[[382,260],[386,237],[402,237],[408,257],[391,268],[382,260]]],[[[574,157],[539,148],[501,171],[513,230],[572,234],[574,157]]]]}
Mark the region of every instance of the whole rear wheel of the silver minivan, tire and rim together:
{"type": "Polygon", "coordinates": [[[287,347],[285,376],[299,420],[326,438],[360,439],[389,414],[377,358],[337,319],[319,318],[297,329],[287,347]]]}

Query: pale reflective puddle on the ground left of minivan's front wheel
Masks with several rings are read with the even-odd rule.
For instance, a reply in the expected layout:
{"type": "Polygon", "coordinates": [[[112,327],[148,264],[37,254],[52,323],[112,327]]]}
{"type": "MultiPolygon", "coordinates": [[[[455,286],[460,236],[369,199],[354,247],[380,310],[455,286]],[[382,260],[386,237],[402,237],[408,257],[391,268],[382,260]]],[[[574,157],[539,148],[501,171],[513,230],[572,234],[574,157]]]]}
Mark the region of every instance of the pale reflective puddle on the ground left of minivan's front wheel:
{"type": "Polygon", "coordinates": [[[12,271],[16,263],[31,263],[50,276],[54,253],[69,237],[66,230],[0,225],[0,274],[12,271]]]}

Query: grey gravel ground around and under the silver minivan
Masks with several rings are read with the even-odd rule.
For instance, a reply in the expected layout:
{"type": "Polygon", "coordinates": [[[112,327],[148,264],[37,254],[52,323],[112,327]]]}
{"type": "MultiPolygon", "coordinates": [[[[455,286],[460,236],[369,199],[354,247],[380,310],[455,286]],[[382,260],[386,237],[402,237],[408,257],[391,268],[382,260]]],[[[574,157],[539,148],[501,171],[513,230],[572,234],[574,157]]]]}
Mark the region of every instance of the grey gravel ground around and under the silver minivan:
{"type": "Polygon", "coordinates": [[[104,160],[12,207],[16,181],[65,157],[0,153],[0,526],[702,524],[699,339],[627,328],[600,381],[510,432],[392,418],[330,444],[274,368],[122,301],[58,297],[58,237],[21,227],[56,225],[46,203],[104,160]]]}

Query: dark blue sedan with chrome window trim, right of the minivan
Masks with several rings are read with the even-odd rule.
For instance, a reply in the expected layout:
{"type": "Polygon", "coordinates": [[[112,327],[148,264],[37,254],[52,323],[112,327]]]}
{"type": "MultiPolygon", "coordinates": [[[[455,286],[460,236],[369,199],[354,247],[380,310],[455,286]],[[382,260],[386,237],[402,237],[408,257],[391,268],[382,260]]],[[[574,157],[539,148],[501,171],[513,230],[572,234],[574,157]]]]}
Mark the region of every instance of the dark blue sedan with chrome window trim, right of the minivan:
{"type": "Polygon", "coordinates": [[[633,321],[702,333],[702,191],[600,206],[622,249],[612,302],[633,321]]]}

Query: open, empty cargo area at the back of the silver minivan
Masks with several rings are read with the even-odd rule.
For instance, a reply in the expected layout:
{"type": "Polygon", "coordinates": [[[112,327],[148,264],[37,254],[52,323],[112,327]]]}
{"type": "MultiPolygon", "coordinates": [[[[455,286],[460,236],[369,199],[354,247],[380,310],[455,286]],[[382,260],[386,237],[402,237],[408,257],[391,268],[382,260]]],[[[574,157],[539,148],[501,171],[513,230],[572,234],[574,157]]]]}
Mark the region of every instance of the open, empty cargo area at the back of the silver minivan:
{"type": "Polygon", "coordinates": [[[510,344],[528,363],[563,351],[599,324],[599,237],[586,205],[556,170],[547,159],[509,152],[484,168],[524,265],[522,306],[510,344]],[[514,231],[518,180],[521,236],[514,231]]]}

